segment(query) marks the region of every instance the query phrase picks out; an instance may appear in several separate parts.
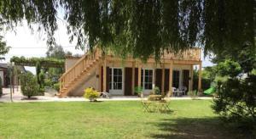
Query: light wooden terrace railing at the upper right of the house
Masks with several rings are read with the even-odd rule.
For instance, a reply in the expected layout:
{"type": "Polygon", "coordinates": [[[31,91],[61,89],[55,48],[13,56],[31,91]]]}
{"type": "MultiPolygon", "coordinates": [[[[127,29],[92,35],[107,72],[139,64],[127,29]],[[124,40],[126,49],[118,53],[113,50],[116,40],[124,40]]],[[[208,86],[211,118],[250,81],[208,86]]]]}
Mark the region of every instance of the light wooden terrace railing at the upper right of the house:
{"type": "Polygon", "coordinates": [[[165,52],[161,58],[171,58],[171,59],[183,59],[183,60],[201,60],[201,48],[189,48],[183,50],[180,53],[167,53],[165,52]]]}

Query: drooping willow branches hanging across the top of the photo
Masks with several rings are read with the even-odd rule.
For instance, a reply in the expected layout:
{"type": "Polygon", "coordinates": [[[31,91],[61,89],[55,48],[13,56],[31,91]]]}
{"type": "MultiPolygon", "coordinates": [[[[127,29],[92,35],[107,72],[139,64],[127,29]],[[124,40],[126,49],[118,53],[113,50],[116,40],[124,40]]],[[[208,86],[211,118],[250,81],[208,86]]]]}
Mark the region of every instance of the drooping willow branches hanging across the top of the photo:
{"type": "Polygon", "coordinates": [[[70,41],[90,49],[108,47],[125,56],[160,58],[163,50],[205,47],[218,57],[237,55],[255,47],[254,1],[212,0],[49,0],[0,2],[0,22],[13,26],[22,19],[38,23],[54,45],[57,10],[63,9],[70,41]],[[230,50],[230,51],[227,51],[230,50]]]}

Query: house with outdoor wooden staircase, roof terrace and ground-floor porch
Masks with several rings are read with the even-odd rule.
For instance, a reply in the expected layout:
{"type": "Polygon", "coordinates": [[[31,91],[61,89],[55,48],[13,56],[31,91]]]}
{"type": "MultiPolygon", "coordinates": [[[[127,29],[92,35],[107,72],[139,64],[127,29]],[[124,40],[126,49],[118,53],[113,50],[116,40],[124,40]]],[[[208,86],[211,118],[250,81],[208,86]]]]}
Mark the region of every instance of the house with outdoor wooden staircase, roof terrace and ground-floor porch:
{"type": "Polygon", "coordinates": [[[96,48],[83,57],[68,57],[66,72],[60,78],[60,97],[83,96],[86,87],[112,95],[134,95],[135,86],[143,86],[144,93],[158,86],[164,94],[172,87],[186,86],[192,91],[193,66],[199,65],[198,89],[201,89],[201,49],[190,48],[181,53],[164,53],[157,64],[154,57],[147,63],[140,59],[118,58],[111,52],[102,54],[96,48]]]}

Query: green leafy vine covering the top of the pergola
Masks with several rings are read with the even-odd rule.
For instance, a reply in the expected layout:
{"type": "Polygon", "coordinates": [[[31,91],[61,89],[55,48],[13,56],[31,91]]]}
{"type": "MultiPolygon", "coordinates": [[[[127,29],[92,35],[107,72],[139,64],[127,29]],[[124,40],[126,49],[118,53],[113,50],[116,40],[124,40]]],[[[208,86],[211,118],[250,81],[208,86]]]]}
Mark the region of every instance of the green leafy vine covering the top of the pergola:
{"type": "Polygon", "coordinates": [[[22,66],[37,66],[39,63],[44,68],[64,68],[65,60],[55,58],[25,58],[25,57],[13,57],[10,62],[15,62],[15,65],[22,66]]]}

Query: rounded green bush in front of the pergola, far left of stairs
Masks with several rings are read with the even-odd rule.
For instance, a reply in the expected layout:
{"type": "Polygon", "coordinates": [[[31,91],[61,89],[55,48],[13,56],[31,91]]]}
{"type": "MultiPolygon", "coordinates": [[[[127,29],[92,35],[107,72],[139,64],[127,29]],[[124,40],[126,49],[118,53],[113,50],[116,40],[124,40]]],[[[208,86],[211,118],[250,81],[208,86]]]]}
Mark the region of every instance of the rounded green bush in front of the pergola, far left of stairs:
{"type": "Polygon", "coordinates": [[[24,96],[30,98],[38,94],[39,85],[37,78],[32,73],[23,73],[20,75],[21,92],[24,96]]]}

